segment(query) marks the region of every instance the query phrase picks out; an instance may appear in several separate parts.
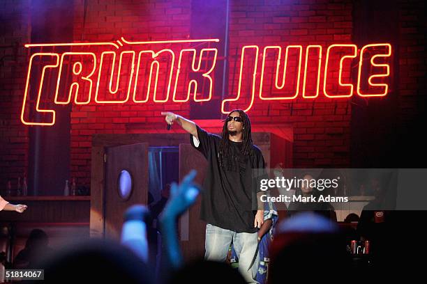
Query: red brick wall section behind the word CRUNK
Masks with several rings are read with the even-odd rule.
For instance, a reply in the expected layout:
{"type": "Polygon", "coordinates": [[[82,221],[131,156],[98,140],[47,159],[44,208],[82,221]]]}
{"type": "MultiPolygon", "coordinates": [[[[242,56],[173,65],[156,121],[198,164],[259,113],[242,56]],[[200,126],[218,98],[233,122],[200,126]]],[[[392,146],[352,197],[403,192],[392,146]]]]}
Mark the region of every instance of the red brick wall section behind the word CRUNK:
{"type": "MultiPolygon", "coordinates": [[[[190,0],[89,1],[83,26],[82,0],[75,1],[75,39],[89,41],[185,39],[190,34],[190,0]]],[[[73,106],[71,113],[71,176],[90,184],[91,135],[144,132],[165,128],[161,111],[188,116],[187,104],[144,104],[73,106]],[[137,130],[128,129],[135,125],[137,130]]]]}

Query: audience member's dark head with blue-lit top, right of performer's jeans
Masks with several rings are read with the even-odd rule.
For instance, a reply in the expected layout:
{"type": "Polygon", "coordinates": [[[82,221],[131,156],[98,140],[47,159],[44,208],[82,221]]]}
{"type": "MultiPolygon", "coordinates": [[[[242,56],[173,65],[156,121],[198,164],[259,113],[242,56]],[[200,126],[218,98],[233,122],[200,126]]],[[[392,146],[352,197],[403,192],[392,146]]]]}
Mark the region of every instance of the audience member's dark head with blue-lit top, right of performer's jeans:
{"type": "Polygon", "coordinates": [[[347,243],[336,222],[315,212],[300,212],[278,223],[270,253],[270,284],[343,281],[359,272],[352,270],[347,243]]]}

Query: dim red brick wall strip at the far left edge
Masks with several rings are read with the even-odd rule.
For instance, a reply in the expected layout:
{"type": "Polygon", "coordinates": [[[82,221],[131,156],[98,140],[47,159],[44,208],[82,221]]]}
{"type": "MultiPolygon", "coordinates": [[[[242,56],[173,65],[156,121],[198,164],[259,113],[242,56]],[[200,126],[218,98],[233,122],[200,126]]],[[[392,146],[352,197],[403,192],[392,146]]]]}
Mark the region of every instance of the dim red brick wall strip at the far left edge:
{"type": "Polygon", "coordinates": [[[30,38],[29,0],[2,1],[0,8],[0,190],[8,180],[13,189],[17,178],[27,173],[28,127],[20,111],[27,75],[30,38]]]}

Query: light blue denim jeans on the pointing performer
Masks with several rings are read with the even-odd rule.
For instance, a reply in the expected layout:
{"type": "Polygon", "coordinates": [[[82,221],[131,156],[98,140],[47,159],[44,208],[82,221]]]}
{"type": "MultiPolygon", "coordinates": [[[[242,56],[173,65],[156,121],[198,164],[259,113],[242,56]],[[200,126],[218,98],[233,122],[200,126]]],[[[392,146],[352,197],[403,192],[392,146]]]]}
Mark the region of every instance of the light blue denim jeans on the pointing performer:
{"type": "Polygon", "coordinates": [[[258,255],[255,255],[258,246],[257,232],[234,232],[207,224],[204,259],[225,262],[232,242],[239,258],[240,274],[247,283],[257,283],[255,280],[259,262],[258,255]]]}

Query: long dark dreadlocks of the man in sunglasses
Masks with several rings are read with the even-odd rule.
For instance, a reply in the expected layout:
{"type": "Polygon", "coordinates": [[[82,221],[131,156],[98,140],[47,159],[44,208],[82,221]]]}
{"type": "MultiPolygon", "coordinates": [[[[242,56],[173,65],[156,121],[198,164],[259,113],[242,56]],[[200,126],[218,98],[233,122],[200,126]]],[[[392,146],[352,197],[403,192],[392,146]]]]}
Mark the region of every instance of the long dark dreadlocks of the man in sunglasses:
{"type": "MultiPolygon", "coordinates": [[[[252,141],[249,117],[241,109],[234,109],[230,111],[230,113],[228,113],[228,116],[230,116],[233,112],[239,113],[242,127],[244,127],[243,133],[242,133],[243,145],[241,148],[241,153],[243,155],[253,155],[253,149],[252,149],[253,141],[252,141]]],[[[221,132],[221,138],[222,139],[220,141],[220,158],[226,157],[228,155],[228,150],[230,150],[230,139],[228,139],[227,119],[224,120],[224,126],[223,126],[223,132],[221,132]]]]}

